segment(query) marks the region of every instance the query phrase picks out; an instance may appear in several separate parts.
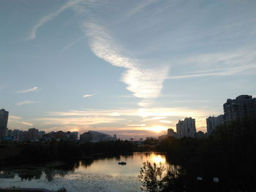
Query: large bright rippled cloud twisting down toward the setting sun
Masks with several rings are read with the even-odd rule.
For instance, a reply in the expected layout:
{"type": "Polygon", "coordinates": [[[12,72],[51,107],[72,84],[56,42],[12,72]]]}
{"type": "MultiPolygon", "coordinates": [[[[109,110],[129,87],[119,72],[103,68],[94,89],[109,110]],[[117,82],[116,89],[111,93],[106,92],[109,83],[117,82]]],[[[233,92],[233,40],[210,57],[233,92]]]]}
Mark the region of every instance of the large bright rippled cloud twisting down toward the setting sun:
{"type": "Polygon", "coordinates": [[[104,59],[113,66],[127,69],[121,81],[128,85],[127,90],[135,97],[142,99],[139,105],[147,107],[151,104],[149,99],[159,96],[162,83],[167,77],[169,66],[147,68],[142,61],[124,56],[121,48],[110,37],[110,32],[96,23],[83,23],[83,31],[90,37],[91,50],[99,58],[104,59]]]}

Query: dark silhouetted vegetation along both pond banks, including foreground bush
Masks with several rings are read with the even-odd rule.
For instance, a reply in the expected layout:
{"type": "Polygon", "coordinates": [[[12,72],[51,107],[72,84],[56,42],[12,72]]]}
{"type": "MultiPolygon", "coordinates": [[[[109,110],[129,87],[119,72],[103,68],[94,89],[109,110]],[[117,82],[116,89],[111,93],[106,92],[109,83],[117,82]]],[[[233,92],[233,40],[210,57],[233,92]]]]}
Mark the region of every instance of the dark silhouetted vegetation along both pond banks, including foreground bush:
{"type": "MultiPolygon", "coordinates": [[[[59,162],[56,165],[69,170],[75,164],[78,166],[78,161],[88,166],[97,158],[118,158],[154,149],[165,153],[172,166],[158,167],[145,162],[139,176],[142,191],[255,191],[255,148],[256,120],[251,119],[219,126],[207,139],[169,137],[162,141],[146,140],[143,147],[120,140],[2,145],[0,167],[59,162]]],[[[54,176],[51,166],[45,168],[51,175],[49,180],[54,176]]]]}

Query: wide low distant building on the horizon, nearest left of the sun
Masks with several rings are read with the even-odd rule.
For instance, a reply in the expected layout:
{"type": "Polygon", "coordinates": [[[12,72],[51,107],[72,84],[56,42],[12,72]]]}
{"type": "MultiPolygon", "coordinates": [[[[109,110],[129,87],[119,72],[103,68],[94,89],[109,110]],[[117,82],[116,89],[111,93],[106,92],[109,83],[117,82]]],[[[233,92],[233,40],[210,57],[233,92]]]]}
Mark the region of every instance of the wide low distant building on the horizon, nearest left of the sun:
{"type": "Polygon", "coordinates": [[[114,137],[109,134],[102,134],[97,131],[88,131],[80,134],[80,141],[82,142],[102,142],[102,141],[116,141],[116,135],[114,137]]]}

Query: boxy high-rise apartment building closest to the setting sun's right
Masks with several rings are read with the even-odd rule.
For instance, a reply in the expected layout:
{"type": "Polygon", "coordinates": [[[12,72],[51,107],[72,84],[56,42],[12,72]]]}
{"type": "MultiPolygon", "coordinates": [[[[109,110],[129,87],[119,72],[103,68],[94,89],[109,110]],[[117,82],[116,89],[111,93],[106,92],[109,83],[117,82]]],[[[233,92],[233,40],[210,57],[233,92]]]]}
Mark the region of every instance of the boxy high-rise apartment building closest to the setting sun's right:
{"type": "Polygon", "coordinates": [[[185,118],[184,120],[178,120],[176,124],[177,138],[192,137],[195,138],[195,119],[185,118]]]}

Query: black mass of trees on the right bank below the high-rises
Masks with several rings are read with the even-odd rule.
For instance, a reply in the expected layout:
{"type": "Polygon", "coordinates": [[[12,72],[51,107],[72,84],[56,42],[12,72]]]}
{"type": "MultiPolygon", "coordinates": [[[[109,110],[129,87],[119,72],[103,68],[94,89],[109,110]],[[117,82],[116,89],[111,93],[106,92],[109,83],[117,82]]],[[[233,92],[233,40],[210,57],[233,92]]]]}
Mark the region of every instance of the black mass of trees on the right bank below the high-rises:
{"type": "Polygon", "coordinates": [[[181,166],[169,191],[256,190],[255,119],[219,126],[208,139],[165,139],[157,150],[167,152],[167,160],[181,166]],[[219,183],[213,182],[214,177],[219,183]]]}

